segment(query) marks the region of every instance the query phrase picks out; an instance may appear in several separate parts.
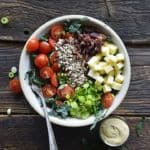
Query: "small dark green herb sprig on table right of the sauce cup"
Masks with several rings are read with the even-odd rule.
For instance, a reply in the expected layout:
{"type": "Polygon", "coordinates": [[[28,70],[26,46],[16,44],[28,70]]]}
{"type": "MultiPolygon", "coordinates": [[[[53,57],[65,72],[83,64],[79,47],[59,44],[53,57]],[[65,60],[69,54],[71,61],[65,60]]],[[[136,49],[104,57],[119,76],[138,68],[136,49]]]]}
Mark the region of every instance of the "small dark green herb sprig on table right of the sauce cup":
{"type": "Polygon", "coordinates": [[[145,124],[145,117],[142,117],[141,120],[138,122],[138,124],[135,127],[135,131],[137,136],[140,136],[143,129],[144,129],[144,124],[145,124]]]}

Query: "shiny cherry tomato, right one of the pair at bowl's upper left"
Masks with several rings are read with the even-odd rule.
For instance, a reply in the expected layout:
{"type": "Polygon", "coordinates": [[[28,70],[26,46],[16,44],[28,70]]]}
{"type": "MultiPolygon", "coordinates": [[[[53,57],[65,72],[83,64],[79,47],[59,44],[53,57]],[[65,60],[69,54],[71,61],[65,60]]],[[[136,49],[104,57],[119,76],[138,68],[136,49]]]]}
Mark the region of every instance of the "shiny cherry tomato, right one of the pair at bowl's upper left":
{"type": "Polygon", "coordinates": [[[41,41],[39,51],[43,54],[48,54],[52,51],[52,48],[48,42],[41,41]]]}

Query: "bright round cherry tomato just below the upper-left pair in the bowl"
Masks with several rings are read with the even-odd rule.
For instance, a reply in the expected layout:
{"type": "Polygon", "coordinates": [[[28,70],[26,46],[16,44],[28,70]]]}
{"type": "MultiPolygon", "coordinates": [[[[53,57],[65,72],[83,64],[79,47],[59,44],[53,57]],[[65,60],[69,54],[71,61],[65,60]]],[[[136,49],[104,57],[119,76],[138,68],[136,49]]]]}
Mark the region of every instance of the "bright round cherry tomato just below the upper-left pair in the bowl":
{"type": "Polygon", "coordinates": [[[38,68],[48,65],[48,57],[45,54],[39,54],[35,57],[34,63],[38,68]]]}

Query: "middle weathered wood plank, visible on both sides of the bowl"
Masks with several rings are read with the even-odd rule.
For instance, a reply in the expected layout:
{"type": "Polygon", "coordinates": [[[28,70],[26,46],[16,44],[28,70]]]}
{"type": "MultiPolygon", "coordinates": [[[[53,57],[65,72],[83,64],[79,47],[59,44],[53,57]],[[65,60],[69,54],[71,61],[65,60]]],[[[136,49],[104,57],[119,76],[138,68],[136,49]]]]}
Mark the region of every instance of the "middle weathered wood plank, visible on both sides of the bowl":
{"type": "MultiPolygon", "coordinates": [[[[18,66],[22,51],[21,43],[0,43],[0,113],[6,114],[11,107],[13,114],[36,114],[23,95],[15,96],[9,91],[7,74],[11,66],[18,66]]],[[[132,64],[132,81],[128,94],[115,114],[150,114],[150,49],[127,47],[132,64]]]]}

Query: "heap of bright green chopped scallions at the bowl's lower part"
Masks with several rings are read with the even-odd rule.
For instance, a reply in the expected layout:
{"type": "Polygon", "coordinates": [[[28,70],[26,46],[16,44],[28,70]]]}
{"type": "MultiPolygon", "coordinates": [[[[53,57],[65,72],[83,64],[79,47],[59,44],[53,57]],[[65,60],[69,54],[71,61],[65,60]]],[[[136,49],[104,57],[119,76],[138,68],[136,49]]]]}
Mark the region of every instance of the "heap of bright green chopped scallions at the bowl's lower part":
{"type": "Polygon", "coordinates": [[[86,119],[91,114],[96,114],[100,107],[101,91],[97,90],[94,83],[85,83],[77,87],[73,97],[66,103],[70,106],[70,115],[75,118],[86,119]]]}

